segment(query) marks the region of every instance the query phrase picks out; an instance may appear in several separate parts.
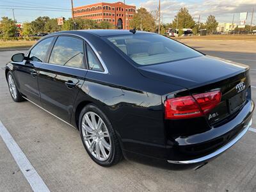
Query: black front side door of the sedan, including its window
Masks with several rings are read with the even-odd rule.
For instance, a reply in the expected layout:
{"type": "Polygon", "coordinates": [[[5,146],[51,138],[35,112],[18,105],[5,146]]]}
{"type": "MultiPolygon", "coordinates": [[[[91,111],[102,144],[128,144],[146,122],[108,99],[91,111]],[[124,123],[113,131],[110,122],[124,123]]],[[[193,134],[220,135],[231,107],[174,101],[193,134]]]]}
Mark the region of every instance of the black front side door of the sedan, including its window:
{"type": "Polygon", "coordinates": [[[40,104],[40,93],[37,83],[38,68],[45,61],[53,39],[54,37],[50,37],[38,42],[29,51],[28,60],[15,63],[15,77],[19,83],[19,91],[36,104],[40,104]]]}

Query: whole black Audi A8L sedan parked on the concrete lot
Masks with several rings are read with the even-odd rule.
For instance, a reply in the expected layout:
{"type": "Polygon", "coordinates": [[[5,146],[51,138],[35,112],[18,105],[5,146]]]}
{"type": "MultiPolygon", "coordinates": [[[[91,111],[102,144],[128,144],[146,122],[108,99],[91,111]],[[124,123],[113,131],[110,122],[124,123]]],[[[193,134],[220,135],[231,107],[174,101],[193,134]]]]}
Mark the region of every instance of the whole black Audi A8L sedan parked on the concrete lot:
{"type": "Polygon", "coordinates": [[[252,124],[249,67],[143,31],[47,35],[6,64],[15,102],[29,100],[79,129],[101,166],[122,157],[201,166],[252,124]]]}

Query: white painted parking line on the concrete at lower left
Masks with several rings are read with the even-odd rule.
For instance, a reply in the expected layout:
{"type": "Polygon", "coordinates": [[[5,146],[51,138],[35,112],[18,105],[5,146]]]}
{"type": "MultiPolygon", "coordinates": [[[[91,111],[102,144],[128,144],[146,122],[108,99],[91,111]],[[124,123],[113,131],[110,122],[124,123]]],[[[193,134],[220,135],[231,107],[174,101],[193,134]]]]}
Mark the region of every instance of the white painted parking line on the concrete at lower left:
{"type": "Polygon", "coordinates": [[[35,168],[29,162],[28,158],[20,149],[19,145],[15,142],[12,135],[6,127],[4,127],[3,123],[0,120],[0,136],[3,138],[3,141],[6,147],[10,150],[10,153],[18,164],[21,172],[23,173],[26,180],[28,180],[33,191],[50,191],[45,185],[44,181],[38,175],[35,168]]]}

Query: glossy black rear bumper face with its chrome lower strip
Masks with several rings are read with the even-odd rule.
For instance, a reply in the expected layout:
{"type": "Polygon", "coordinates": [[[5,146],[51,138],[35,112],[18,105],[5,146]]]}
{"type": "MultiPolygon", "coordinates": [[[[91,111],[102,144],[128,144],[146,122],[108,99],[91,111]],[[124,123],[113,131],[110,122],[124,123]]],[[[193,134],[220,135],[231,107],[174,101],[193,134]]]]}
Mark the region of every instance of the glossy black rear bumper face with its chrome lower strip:
{"type": "Polygon", "coordinates": [[[243,109],[229,122],[188,137],[175,138],[168,152],[170,164],[202,164],[232,147],[252,125],[254,103],[248,100],[243,109]]]}

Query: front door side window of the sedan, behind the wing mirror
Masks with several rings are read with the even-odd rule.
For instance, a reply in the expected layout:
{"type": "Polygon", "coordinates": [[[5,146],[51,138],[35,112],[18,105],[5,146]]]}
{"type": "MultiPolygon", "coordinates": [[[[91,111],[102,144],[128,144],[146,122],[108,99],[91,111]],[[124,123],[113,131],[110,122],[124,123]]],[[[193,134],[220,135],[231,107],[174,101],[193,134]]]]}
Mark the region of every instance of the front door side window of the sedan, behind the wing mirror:
{"type": "Polygon", "coordinates": [[[29,53],[29,60],[43,62],[54,37],[39,42],[29,53]]]}

